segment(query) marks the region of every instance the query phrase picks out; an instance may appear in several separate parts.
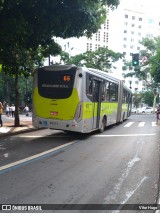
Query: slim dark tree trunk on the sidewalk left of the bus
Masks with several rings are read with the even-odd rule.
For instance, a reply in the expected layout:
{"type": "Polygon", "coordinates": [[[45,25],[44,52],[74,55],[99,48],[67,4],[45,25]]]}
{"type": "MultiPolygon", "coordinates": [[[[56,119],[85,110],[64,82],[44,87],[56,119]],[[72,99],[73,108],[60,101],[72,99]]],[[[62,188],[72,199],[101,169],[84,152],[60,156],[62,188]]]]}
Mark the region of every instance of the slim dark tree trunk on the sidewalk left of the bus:
{"type": "Polygon", "coordinates": [[[20,126],[20,120],[19,120],[19,90],[18,90],[18,68],[16,68],[16,75],[15,75],[15,120],[14,120],[14,126],[19,127],[20,126]]]}

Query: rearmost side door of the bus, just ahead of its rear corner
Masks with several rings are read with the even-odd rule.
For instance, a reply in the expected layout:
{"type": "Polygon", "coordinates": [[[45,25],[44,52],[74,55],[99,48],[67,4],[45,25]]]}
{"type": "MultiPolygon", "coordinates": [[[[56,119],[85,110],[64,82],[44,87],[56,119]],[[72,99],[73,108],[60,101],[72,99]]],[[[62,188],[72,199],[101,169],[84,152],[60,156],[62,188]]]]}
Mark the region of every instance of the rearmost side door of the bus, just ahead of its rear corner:
{"type": "Polygon", "coordinates": [[[99,127],[101,110],[101,81],[93,79],[93,129],[99,127]]]}

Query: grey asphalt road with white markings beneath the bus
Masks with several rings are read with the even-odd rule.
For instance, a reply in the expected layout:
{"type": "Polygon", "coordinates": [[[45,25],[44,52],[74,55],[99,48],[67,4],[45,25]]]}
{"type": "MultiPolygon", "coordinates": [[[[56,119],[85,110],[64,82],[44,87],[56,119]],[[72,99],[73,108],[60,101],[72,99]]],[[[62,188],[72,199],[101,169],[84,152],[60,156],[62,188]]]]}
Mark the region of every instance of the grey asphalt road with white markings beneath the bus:
{"type": "Polygon", "coordinates": [[[132,115],[102,134],[42,130],[2,139],[0,203],[157,203],[160,124],[155,120],[132,115]]]}

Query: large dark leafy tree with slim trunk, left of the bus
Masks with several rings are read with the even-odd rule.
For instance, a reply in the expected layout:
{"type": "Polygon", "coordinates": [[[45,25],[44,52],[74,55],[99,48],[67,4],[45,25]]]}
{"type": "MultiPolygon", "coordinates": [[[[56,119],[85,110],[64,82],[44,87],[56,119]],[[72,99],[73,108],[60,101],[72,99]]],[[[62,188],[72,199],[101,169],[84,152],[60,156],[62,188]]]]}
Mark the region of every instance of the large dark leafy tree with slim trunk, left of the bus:
{"type": "Polygon", "coordinates": [[[0,64],[15,80],[15,126],[20,125],[19,76],[43,57],[61,52],[53,37],[95,33],[106,18],[106,2],[112,8],[119,4],[119,0],[0,0],[0,64]]]}

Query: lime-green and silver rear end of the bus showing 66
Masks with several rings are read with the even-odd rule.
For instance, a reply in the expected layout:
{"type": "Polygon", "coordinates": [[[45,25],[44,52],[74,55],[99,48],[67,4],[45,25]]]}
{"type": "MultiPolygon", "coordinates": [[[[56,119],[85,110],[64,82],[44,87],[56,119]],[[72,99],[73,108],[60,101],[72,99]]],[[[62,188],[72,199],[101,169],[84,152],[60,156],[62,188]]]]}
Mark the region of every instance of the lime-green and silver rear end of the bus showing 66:
{"type": "Polygon", "coordinates": [[[80,71],[72,65],[53,65],[35,70],[33,126],[82,132],[80,71]],[[78,82],[75,81],[79,75],[78,82]]]}

